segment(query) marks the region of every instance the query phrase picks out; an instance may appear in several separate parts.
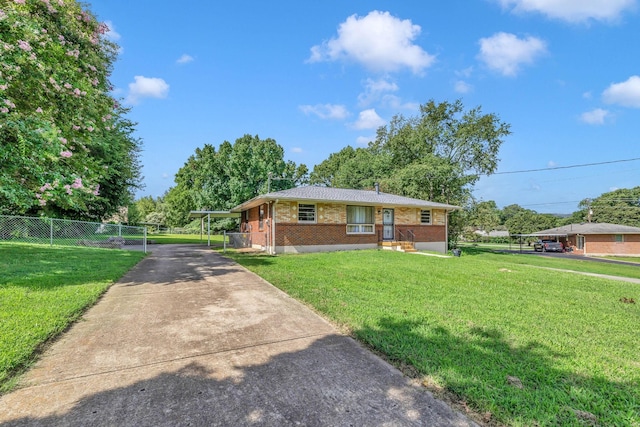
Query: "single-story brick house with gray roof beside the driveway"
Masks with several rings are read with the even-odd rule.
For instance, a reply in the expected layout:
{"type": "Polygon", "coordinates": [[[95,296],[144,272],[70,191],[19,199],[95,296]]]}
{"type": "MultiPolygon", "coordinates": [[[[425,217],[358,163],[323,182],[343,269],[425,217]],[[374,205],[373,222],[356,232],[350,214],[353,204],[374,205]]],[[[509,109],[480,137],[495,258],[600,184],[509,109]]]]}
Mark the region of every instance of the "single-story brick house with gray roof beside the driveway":
{"type": "Polygon", "coordinates": [[[457,206],[379,191],[298,187],[235,208],[240,230],[271,253],[377,248],[410,240],[418,250],[447,251],[448,213],[457,206]]]}

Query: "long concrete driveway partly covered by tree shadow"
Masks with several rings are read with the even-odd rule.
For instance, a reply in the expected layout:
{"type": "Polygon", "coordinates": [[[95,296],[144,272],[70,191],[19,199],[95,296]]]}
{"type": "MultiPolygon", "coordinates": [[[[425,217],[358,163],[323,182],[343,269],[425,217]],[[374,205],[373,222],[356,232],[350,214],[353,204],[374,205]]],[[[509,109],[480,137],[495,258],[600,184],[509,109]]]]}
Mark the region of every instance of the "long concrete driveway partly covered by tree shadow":
{"type": "Polygon", "coordinates": [[[163,245],[0,398],[30,426],[474,425],[203,246],[163,245]]]}

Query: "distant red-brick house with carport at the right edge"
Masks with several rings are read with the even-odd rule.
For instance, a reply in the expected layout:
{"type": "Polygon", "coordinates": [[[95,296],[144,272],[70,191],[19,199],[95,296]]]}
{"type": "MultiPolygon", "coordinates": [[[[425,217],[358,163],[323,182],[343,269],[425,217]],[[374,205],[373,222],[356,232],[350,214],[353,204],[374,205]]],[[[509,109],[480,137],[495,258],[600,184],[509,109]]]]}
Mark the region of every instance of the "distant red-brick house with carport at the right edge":
{"type": "Polygon", "coordinates": [[[640,228],[587,222],[542,230],[536,236],[558,238],[573,253],[601,256],[640,256],[640,228]]]}

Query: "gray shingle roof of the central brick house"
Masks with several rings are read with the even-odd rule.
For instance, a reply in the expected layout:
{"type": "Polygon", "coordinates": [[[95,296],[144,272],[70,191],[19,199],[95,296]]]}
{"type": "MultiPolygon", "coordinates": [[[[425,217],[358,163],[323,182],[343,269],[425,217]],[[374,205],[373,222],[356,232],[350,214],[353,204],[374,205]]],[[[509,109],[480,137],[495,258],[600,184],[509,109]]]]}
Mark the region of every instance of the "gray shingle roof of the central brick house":
{"type": "Polygon", "coordinates": [[[397,196],[395,194],[377,193],[376,191],[371,190],[308,186],[263,194],[236,206],[231,211],[248,209],[272,200],[302,200],[309,202],[352,203],[369,206],[420,207],[427,209],[439,208],[446,210],[460,209],[458,206],[454,205],[412,199],[410,197],[397,196]]]}

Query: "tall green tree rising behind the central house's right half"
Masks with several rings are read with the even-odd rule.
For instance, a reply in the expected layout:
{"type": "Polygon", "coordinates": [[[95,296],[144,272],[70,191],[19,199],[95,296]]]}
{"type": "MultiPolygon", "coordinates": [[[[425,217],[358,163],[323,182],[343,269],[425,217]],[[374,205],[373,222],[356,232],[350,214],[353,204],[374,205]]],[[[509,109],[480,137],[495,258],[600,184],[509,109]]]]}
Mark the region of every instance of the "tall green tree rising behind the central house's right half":
{"type": "Polygon", "coordinates": [[[311,173],[314,184],[367,188],[445,203],[465,204],[480,175],[498,165],[509,125],[462,101],[420,106],[418,116],[395,116],[367,148],[346,147],[311,173]]]}

